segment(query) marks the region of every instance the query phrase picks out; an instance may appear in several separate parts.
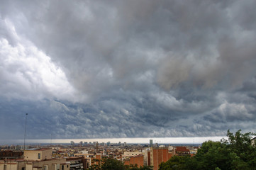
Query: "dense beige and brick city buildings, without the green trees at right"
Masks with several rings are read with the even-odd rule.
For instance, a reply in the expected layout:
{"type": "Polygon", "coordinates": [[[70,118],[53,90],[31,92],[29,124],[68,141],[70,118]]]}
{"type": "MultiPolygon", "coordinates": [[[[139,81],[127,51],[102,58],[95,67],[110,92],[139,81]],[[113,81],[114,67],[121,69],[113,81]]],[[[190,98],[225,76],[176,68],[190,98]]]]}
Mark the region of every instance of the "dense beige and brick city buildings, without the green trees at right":
{"type": "Polygon", "coordinates": [[[18,169],[17,166],[23,166],[26,169],[32,169],[32,167],[33,169],[52,169],[54,164],[54,169],[61,169],[63,166],[62,169],[83,170],[98,164],[94,159],[101,160],[103,157],[108,157],[128,166],[154,166],[155,170],[161,162],[167,162],[174,155],[196,154],[200,145],[158,145],[153,143],[153,140],[149,140],[148,144],[70,141],[69,144],[59,145],[25,145],[25,149],[23,145],[2,145],[0,146],[0,169],[18,169]]]}

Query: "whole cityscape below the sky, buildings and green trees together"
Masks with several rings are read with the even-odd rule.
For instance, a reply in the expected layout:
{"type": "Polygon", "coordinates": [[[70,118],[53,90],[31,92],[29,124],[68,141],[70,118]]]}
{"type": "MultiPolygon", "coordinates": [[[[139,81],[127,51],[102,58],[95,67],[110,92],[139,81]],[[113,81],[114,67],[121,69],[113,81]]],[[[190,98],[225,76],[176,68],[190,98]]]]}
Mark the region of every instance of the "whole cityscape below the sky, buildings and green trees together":
{"type": "Polygon", "coordinates": [[[26,145],[24,142],[24,145],[0,146],[0,169],[182,170],[238,166],[253,169],[255,136],[251,132],[243,134],[241,130],[235,133],[228,130],[228,139],[216,142],[208,140],[197,145],[157,144],[153,140],[149,140],[148,144],[70,141],[69,144],[26,145]]]}

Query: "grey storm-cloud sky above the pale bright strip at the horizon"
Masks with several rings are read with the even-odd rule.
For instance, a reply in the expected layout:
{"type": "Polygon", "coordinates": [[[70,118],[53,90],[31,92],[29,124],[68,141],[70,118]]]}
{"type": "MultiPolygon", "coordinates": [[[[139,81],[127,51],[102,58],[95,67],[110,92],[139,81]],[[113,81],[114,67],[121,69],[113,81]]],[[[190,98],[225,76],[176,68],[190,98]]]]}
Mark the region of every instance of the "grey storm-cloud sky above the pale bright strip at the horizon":
{"type": "Polygon", "coordinates": [[[255,132],[256,1],[0,4],[1,139],[255,132]]]}

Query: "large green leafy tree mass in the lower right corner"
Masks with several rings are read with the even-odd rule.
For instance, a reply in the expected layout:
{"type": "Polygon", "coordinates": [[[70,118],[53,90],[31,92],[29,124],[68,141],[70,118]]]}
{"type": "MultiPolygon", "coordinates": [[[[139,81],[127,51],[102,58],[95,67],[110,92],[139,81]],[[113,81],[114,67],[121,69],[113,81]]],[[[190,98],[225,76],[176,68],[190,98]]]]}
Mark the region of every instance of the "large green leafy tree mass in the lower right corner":
{"type": "Polygon", "coordinates": [[[238,130],[233,134],[228,130],[228,140],[202,144],[194,157],[172,157],[160,164],[160,170],[169,169],[256,169],[256,147],[252,145],[254,133],[245,134],[238,130]]]}

